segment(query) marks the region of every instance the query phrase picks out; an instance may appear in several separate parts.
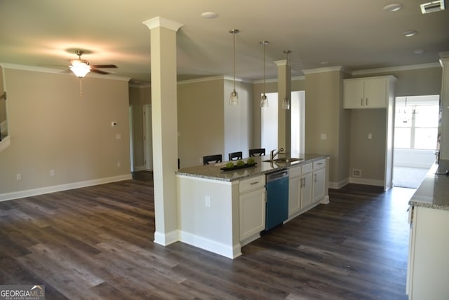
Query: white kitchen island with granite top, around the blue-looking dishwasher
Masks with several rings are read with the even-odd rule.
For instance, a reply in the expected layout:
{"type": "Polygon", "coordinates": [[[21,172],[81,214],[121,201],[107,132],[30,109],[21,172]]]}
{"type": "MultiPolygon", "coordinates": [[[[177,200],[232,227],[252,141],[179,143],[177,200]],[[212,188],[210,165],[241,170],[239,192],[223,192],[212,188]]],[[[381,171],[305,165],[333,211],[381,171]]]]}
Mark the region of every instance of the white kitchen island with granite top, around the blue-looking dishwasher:
{"type": "Polygon", "coordinates": [[[255,165],[239,170],[221,170],[226,162],[178,170],[178,240],[232,259],[241,255],[241,247],[264,231],[265,175],[276,170],[288,169],[294,175],[289,207],[298,208],[289,210],[289,219],[319,203],[328,203],[329,156],[299,157],[290,163],[273,163],[269,156],[257,156],[253,157],[255,165]],[[310,201],[301,207],[302,183],[306,182],[302,175],[310,179],[305,186],[310,201]]]}

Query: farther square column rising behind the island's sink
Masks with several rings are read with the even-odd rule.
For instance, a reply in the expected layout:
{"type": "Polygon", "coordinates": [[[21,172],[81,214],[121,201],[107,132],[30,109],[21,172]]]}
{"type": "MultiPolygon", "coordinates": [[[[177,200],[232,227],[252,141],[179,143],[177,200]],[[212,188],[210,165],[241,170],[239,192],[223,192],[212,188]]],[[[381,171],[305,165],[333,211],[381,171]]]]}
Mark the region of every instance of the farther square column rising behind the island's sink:
{"type": "Polygon", "coordinates": [[[278,146],[283,147],[287,154],[291,154],[291,111],[282,108],[286,96],[290,102],[292,100],[291,67],[287,60],[278,60],[274,63],[278,66],[278,146]]]}

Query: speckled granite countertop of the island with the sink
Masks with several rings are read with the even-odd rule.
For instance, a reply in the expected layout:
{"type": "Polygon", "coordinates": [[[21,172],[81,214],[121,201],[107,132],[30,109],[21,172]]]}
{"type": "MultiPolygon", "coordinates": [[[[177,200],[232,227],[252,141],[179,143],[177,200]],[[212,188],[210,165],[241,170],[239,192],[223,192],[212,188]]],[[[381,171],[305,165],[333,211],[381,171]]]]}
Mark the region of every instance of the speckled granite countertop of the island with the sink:
{"type": "MultiPolygon", "coordinates": [[[[276,158],[282,158],[285,154],[279,154],[276,158]]],[[[215,163],[213,165],[196,165],[190,168],[183,168],[177,170],[177,175],[185,175],[191,177],[199,177],[206,179],[215,179],[232,182],[234,180],[246,179],[249,177],[254,177],[257,175],[267,174],[273,172],[274,170],[281,170],[285,168],[292,168],[296,165],[302,165],[304,163],[311,163],[312,161],[317,161],[321,158],[327,158],[328,155],[324,154],[300,154],[294,156],[295,158],[301,158],[300,161],[293,161],[291,163],[270,163],[264,162],[269,161],[269,155],[267,156],[255,156],[253,157],[256,165],[253,167],[243,168],[239,170],[220,170],[224,168],[227,161],[222,163],[215,163]]],[[[248,158],[243,158],[246,162],[248,158]]]]}

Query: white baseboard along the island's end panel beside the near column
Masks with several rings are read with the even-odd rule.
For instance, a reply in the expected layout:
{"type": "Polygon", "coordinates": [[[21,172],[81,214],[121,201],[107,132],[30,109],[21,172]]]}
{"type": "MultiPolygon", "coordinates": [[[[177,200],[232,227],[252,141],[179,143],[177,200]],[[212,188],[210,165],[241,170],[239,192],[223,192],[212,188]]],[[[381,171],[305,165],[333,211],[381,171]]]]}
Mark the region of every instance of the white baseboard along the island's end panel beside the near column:
{"type": "Polygon", "coordinates": [[[241,255],[240,243],[229,246],[222,243],[217,243],[215,240],[209,240],[208,238],[196,236],[185,231],[180,231],[180,241],[182,243],[186,243],[204,250],[208,250],[210,252],[214,252],[216,254],[220,254],[229,259],[234,259],[241,255]]]}

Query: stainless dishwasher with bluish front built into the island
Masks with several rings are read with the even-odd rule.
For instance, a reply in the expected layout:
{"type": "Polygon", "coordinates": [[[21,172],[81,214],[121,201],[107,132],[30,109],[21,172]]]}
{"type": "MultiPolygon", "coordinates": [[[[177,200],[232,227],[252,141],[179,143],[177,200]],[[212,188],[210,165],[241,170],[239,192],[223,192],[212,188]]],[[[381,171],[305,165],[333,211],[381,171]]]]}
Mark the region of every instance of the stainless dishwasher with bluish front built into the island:
{"type": "Polygon", "coordinates": [[[288,169],[267,174],[265,231],[288,219],[288,169]]]}

